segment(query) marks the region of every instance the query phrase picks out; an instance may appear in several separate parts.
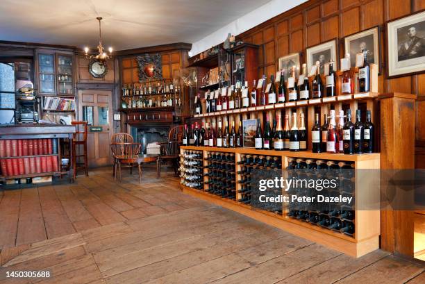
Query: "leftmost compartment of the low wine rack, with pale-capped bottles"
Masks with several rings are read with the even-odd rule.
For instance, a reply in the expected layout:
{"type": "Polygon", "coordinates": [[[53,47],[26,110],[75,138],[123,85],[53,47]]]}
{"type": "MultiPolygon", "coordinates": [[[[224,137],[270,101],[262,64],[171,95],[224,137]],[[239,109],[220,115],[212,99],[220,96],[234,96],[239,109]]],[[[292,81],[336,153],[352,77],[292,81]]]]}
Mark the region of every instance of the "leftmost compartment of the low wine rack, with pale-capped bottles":
{"type": "Polygon", "coordinates": [[[183,151],[180,155],[181,184],[196,190],[203,190],[202,151],[183,151]]]}

